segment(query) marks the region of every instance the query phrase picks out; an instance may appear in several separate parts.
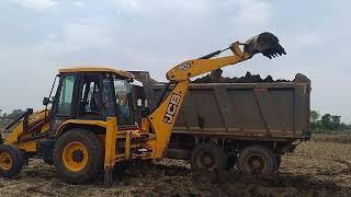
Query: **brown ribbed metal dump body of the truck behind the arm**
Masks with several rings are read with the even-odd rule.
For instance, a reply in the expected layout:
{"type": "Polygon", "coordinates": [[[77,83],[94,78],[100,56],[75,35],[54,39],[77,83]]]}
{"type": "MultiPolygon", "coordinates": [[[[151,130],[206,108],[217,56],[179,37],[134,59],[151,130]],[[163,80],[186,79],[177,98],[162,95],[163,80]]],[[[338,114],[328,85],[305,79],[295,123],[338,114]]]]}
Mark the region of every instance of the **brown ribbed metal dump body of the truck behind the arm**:
{"type": "MultiPolygon", "coordinates": [[[[147,83],[147,103],[154,104],[163,86],[147,83]]],[[[309,139],[309,94],[308,79],[191,83],[172,132],[262,141],[309,139]]],[[[149,107],[152,111],[155,106],[149,107]]]]}

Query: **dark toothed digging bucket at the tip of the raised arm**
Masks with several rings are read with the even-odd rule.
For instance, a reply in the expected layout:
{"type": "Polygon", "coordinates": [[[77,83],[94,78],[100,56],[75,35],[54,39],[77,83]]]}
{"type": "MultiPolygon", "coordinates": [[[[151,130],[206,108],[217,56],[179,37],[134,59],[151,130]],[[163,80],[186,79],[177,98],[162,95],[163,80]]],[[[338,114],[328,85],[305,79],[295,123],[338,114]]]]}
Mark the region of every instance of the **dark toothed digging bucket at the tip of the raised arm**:
{"type": "Polygon", "coordinates": [[[251,56],[262,53],[263,56],[272,59],[272,57],[286,55],[284,48],[279,44],[278,37],[269,32],[248,39],[244,45],[244,51],[249,53],[251,56]]]}

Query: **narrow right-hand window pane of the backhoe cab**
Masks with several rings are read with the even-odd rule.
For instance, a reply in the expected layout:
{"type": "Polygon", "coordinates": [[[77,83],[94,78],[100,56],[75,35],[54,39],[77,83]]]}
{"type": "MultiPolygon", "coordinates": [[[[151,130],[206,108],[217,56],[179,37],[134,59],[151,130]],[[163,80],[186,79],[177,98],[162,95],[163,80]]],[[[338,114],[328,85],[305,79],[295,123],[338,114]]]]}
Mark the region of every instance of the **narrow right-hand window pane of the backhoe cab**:
{"type": "Polygon", "coordinates": [[[113,79],[114,92],[116,95],[116,111],[118,125],[134,125],[133,113],[131,112],[132,85],[126,80],[113,79]]]}

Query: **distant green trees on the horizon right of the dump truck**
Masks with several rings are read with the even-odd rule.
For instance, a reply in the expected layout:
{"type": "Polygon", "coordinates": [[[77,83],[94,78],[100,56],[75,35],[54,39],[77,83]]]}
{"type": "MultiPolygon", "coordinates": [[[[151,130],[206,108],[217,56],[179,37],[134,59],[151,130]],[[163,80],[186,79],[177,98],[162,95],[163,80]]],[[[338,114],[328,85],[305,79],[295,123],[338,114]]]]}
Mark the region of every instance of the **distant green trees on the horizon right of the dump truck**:
{"type": "Polygon", "coordinates": [[[341,121],[341,116],[324,114],[322,116],[317,111],[310,112],[310,127],[316,132],[324,132],[328,130],[332,131],[346,131],[351,130],[351,124],[341,121]]]}

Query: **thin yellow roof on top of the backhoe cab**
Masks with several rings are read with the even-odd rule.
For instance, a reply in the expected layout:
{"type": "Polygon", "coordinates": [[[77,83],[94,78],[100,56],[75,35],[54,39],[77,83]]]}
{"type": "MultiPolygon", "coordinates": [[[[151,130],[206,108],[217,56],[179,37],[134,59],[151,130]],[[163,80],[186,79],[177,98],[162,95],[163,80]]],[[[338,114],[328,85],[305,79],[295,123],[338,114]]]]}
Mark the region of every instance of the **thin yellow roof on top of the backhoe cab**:
{"type": "Polygon", "coordinates": [[[123,70],[115,70],[109,67],[71,67],[59,69],[59,73],[73,73],[73,72],[112,72],[123,78],[134,79],[134,74],[123,70]]]}

